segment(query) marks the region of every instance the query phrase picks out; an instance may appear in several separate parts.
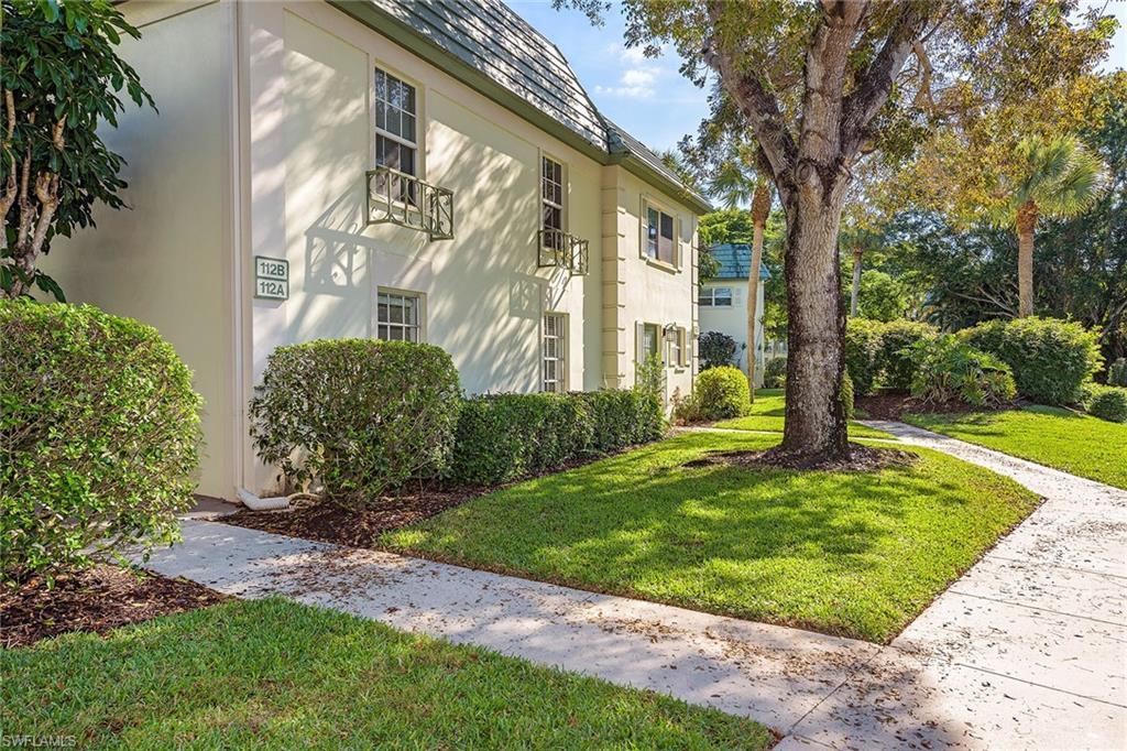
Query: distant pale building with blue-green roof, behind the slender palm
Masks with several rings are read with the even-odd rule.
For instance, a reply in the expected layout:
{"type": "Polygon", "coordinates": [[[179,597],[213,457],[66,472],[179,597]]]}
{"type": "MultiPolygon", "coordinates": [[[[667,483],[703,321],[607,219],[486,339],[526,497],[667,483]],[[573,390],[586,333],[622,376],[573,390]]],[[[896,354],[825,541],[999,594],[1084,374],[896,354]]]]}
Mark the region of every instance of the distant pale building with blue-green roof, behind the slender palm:
{"type": "MultiPolygon", "coordinates": [[[[744,244],[715,245],[709,248],[720,262],[720,271],[711,279],[702,279],[700,302],[700,330],[720,332],[736,339],[736,362],[740,370],[747,368],[747,279],[752,268],[752,246],[744,244]]],[[[763,385],[763,282],[771,277],[766,266],[760,264],[760,283],[755,291],[755,385],[763,385]]]]}

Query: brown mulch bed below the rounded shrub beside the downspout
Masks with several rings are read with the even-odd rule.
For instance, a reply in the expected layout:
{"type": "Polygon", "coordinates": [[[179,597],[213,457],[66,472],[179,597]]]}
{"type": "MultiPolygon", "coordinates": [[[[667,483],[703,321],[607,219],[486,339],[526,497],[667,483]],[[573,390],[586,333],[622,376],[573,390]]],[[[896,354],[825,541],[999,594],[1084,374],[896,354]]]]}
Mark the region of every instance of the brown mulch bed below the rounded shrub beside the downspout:
{"type": "Polygon", "coordinates": [[[215,521],[264,532],[370,548],[382,532],[429,519],[495,488],[420,491],[381,500],[361,509],[314,503],[287,511],[238,511],[215,521]]]}

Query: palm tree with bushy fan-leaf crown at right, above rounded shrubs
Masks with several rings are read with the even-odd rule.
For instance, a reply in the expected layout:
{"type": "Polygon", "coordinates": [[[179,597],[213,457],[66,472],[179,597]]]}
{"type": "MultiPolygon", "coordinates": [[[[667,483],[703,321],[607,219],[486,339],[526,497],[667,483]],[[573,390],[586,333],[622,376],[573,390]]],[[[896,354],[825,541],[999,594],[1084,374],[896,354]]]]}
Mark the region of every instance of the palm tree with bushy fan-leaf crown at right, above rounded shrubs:
{"type": "Polygon", "coordinates": [[[1084,213],[1103,192],[1099,157],[1074,135],[1029,136],[1018,142],[1011,171],[1000,180],[995,220],[1018,230],[1018,317],[1033,315],[1033,232],[1041,217],[1084,213]]]}

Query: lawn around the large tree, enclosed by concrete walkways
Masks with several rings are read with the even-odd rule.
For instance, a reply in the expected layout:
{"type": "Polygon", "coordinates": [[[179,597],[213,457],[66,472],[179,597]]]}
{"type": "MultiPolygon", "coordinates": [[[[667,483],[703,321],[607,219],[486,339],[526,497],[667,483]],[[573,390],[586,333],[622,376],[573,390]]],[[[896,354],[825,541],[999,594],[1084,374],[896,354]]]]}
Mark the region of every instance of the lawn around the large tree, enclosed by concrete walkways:
{"type": "Polygon", "coordinates": [[[686,468],[777,438],[686,433],[474,498],[390,548],[885,642],[1036,496],[937,452],[879,472],[686,468]]]}

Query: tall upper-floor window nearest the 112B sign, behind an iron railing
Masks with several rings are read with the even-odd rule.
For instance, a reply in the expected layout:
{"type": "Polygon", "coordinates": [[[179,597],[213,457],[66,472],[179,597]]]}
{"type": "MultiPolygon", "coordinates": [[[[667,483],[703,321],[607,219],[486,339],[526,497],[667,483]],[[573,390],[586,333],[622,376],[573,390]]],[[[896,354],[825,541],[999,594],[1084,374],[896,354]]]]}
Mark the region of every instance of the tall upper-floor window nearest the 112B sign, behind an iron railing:
{"type": "MultiPolygon", "coordinates": [[[[415,87],[375,69],[375,164],[415,175],[418,130],[415,87]]],[[[394,200],[415,203],[415,187],[392,177],[394,200]]],[[[383,186],[379,186],[382,188],[383,186]]]]}

